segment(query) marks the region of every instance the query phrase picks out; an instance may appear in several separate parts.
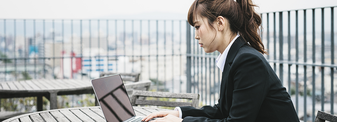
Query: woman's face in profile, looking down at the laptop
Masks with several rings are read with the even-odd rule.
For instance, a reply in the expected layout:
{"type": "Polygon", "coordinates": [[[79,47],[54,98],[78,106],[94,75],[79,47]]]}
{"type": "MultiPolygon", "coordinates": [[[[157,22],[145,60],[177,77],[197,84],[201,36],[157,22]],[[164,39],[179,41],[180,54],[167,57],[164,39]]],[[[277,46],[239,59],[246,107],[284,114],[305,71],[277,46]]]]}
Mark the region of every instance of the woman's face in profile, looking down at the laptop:
{"type": "Polygon", "coordinates": [[[196,15],[194,19],[195,39],[198,40],[200,47],[204,48],[206,53],[212,53],[218,50],[219,44],[216,39],[216,29],[208,24],[208,19],[196,15]]]}

